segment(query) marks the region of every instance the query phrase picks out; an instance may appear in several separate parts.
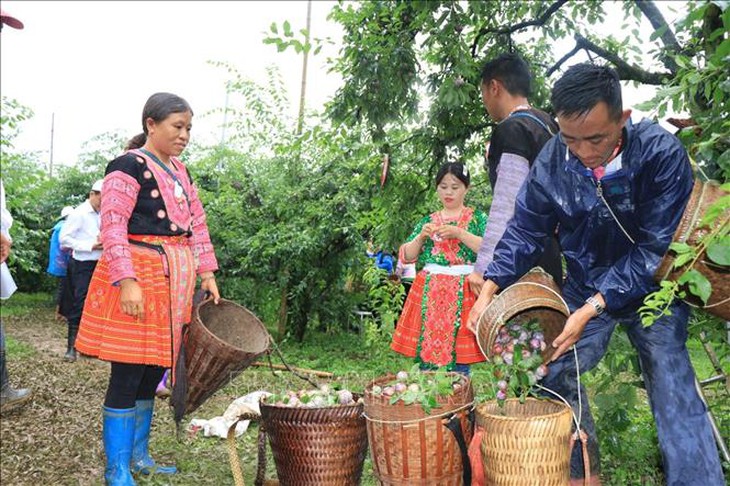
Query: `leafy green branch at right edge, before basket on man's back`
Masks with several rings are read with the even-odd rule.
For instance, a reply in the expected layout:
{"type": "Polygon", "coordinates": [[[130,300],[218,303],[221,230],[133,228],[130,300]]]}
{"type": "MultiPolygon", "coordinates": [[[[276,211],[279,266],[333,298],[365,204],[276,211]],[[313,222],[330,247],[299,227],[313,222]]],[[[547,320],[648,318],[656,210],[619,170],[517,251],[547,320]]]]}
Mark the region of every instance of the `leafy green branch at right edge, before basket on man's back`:
{"type": "Polygon", "coordinates": [[[644,326],[651,326],[659,317],[669,315],[669,307],[675,298],[684,299],[692,295],[707,304],[712,285],[694,268],[703,255],[720,267],[730,268],[730,183],[723,184],[721,189],[729,194],[707,208],[699,227],[707,228],[708,233],[699,239],[697,245],[680,242],[669,245],[669,251],[675,255],[672,269],[684,268],[684,271],[676,280],[662,280],[659,290],[644,298],[644,305],[639,308],[644,326]]]}

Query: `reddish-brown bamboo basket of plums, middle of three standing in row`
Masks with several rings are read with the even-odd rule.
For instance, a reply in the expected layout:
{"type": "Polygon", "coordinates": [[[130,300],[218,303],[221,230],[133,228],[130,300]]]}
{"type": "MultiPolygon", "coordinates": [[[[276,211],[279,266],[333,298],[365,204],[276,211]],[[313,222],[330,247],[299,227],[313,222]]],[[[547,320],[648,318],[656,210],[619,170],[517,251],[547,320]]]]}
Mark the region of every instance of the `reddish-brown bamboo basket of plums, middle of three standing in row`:
{"type": "Polygon", "coordinates": [[[365,389],[368,442],[373,472],[379,484],[463,485],[462,453],[445,423],[455,415],[462,436],[469,444],[473,434],[469,412],[474,403],[471,381],[463,377],[462,386],[452,396],[439,397],[439,406],[427,414],[418,403],[391,405],[389,397],[373,395],[373,385],[393,380],[395,375],[387,375],[374,380],[365,389]]]}

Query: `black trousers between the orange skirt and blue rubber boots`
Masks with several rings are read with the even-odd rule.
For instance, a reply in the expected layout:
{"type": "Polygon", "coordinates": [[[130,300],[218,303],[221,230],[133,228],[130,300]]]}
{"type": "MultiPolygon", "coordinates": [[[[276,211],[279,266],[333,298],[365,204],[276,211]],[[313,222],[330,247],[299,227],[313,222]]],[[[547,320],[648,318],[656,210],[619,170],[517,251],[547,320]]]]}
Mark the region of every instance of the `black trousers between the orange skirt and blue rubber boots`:
{"type": "Polygon", "coordinates": [[[154,399],[157,385],[164,374],[165,368],[162,366],[112,362],[104,406],[132,408],[137,400],[154,399]]]}

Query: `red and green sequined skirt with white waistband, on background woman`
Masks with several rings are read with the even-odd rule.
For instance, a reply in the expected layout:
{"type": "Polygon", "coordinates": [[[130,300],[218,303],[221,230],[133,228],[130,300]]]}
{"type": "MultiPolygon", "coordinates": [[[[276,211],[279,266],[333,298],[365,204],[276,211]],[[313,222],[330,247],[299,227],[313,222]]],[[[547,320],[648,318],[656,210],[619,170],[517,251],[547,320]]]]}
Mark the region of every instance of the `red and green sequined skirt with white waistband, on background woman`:
{"type": "Polygon", "coordinates": [[[474,306],[466,276],[420,271],[393,334],[390,347],[436,366],[485,361],[466,327],[474,306]]]}

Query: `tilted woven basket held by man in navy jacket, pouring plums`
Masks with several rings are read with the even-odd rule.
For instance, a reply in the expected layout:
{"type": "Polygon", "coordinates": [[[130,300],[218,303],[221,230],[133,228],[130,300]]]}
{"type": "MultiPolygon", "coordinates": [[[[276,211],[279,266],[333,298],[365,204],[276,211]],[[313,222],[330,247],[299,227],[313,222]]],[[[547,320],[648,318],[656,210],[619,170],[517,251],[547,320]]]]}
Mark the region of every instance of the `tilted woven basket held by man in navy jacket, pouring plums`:
{"type": "MultiPolygon", "coordinates": [[[[482,354],[491,359],[500,327],[509,321],[526,323],[532,319],[540,323],[545,342],[552,343],[563,331],[568,316],[570,309],[555,281],[536,267],[500,292],[482,313],[476,325],[477,343],[482,354]]],[[[550,361],[554,351],[552,346],[543,351],[544,363],[550,361]]]]}

